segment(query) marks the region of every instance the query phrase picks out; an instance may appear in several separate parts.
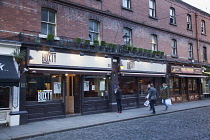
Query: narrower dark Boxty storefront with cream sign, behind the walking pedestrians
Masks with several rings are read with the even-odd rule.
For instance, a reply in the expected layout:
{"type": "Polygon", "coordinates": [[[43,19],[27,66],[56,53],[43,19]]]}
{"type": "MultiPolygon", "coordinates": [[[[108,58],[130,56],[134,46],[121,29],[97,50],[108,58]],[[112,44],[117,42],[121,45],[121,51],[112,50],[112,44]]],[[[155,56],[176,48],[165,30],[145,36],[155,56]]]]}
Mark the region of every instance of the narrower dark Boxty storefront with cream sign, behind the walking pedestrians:
{"type": "MultiPolygon", "coordinates": [[[[165,82],[166,64],[151,61],[121,59],[118,83],[123,90],[123,109],[143,107],[148,84],[154,84],[160,92],[165,82]]],[[[157,104],[160,104],[160,99],[157,104]]]]}

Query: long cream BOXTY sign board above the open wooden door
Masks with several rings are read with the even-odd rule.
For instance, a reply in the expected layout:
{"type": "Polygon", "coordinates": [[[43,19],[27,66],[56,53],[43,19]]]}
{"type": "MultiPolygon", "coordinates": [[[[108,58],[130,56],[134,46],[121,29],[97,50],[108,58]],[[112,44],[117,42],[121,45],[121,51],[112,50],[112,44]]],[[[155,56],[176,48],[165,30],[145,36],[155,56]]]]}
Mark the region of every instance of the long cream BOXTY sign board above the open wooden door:
{"type": "Polygon", "coordinates": [[[30,56],[34,59],[29,61],[29,65],[88,67],[107,70],[112,68],[111,58],[99,56],[80,56],[79,54],[35,50],[30,50],[30,56]]]}

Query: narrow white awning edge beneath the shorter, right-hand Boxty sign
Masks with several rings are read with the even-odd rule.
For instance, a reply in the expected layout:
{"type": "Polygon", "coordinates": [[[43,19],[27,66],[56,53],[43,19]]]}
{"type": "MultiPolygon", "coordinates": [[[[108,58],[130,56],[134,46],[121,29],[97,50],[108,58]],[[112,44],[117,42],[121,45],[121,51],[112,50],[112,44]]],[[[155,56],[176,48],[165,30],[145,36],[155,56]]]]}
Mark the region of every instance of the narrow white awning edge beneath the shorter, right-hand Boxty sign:
{"type": "Polygon", "coordinates": [[[165,73],[129,73],[121,72],[122,76],[141,76],[141,77],[165,77],[165,73]]]}

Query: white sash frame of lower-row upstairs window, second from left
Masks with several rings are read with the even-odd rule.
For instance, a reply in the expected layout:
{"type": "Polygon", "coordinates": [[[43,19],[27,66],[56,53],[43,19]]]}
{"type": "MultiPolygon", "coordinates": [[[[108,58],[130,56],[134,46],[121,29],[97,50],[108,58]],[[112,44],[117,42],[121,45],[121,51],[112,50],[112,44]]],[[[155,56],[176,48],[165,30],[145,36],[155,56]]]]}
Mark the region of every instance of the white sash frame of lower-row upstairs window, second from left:
{"type": "Polygon", "coordinates": [[[88,21],[88,30],[89,30],[89,39],[90,39],[91,44],[93,44],[93,41],[95,39],[97,39],[98,41],[100,40],[100,38],[99,38],[99,35],[100,35],[100,33],[99,33],[99,22],[98,21],[89,20],[88,21]],[[90,24],[89,24],[90,22],[93,22],[93,23],[97,24],[97,27],[94,26],[95,24],[92,24],[93,25],[93,27],[92,27],[93,30],[90,30],[90,24]],[[97,28],[97,30],[96,30],[96,28],[97,28]],[[93,36],[97,36],[97,38],[94,38],[93,36]]]}

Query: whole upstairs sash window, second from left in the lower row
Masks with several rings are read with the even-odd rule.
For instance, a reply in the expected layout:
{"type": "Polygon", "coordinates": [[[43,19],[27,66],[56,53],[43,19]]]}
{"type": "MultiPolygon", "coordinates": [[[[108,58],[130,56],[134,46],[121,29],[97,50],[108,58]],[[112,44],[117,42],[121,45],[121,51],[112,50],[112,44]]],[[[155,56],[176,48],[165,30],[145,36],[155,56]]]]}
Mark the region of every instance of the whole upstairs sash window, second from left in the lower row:
{"type": "Polygon", "coordinates": [[[89,20],[89,38],[90,42],[99,40],[99,23],[94,20],[89,20]]]}

